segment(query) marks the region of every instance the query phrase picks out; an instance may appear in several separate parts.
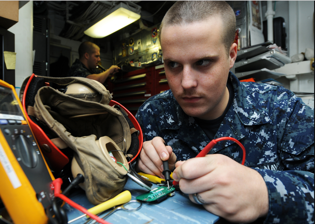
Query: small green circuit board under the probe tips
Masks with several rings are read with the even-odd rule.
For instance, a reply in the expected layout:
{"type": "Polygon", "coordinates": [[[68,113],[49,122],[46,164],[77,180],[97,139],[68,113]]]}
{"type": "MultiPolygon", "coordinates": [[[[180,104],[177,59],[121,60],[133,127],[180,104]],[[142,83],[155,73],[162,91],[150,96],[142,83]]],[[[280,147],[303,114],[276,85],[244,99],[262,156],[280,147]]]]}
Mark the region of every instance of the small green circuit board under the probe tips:
{"type": "Polygon", "coordinates": [[[146,202],[152,202],[152,201],[162,201],[167,196],[173,196],[175,194],[175,188],[170,187],[169,189],[167,187],[156,187],[152,189],[151,191],[148,191],[144,194],[141,194],[136,197],[137,200],[140,201],[146,201],[146,202]]]}

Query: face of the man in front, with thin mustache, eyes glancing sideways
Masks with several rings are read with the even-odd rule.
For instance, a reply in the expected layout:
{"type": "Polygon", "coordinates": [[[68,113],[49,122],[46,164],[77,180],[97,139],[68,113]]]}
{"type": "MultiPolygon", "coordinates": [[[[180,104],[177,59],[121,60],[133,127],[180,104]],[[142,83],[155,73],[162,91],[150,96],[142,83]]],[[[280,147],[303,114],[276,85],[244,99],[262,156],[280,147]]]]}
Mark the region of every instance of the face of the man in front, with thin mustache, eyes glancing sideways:
{"type": "Polygon", "coordinates": [[[175,99],[192,117],[215,119],[227,105],[226,82],[235,59],[231,64],[222,41],[221,24],[220,18],[212,17],[162,29],[166,78],[175,99]]]}

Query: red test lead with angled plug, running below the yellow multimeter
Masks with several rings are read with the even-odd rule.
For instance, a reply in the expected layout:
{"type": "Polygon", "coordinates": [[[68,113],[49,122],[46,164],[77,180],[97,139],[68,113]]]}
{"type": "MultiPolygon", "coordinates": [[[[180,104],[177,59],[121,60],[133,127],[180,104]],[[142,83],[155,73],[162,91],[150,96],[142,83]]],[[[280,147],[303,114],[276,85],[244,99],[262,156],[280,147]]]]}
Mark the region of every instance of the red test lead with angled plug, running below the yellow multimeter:
{"type": "Polygon", "coordinates": [[[98,217],[97,215],[94,215],[92,213],[90,213],[86,208],[82,207],[81,205],[75,203],[74,201],[72,201],[70,198],[66,197],[63,194],[60,194],[60,188],[61,188],[61,184],[62,184],[62,179],[61,178],[57,178],[56,180],[53,181],[53,185],[54,185],[54,196],[61,198],[62,200],[64,200],[66,203],[68,203],[69,205],[71,205],[73,208],[83,212],[86,215],[89,215],[90,218],[95,219],[96,221],[98,221],[99,223],[102,224],[112,224],[110,222],[107,222],[103,219],[100,219],[100,217],[98,217]]]}

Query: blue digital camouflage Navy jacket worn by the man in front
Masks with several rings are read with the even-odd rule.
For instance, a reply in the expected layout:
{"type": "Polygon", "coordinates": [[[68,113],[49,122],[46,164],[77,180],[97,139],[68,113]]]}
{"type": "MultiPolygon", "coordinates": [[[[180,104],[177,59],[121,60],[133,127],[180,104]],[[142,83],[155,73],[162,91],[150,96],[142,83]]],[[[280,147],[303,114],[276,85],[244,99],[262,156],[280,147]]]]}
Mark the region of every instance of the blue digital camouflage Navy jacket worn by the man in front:
{"type": "MultiPolygon", "coordinates": [[[[314,223],[314,108],[280,86],[240,83],[230,72],[234,101],[215,139],[229,136],[246,149],[245,166],[264,178],[269,193],[265,223],[314,223]]],[[[144,141],[162,137],[178,160],[195,157],[209,143],[193,117],[183,112],[171,90],[149,98],[136,118],[144,141]]],[[[217,143],[220,153],[241,163],[232,141],[217,143]]]]}

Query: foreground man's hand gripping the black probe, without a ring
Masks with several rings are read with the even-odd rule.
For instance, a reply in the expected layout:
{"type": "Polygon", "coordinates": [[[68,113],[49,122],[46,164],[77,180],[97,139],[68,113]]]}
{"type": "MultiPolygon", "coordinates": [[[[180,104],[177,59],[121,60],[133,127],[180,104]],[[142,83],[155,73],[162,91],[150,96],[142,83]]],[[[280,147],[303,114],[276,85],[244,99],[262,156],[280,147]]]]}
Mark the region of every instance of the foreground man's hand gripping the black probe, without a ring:
{"type": "Polygon", "coordinates": [[[161,137],[155,137],[151,141],[145,141],[142,145],[140,157],[138,156],[136,169],[141,170],[146,174],[156,175],[164,178],[163,161],[168,160],[169,169],[175,167],[176,156],[171,146],[165,146],[164,140],[161,137]]]}

